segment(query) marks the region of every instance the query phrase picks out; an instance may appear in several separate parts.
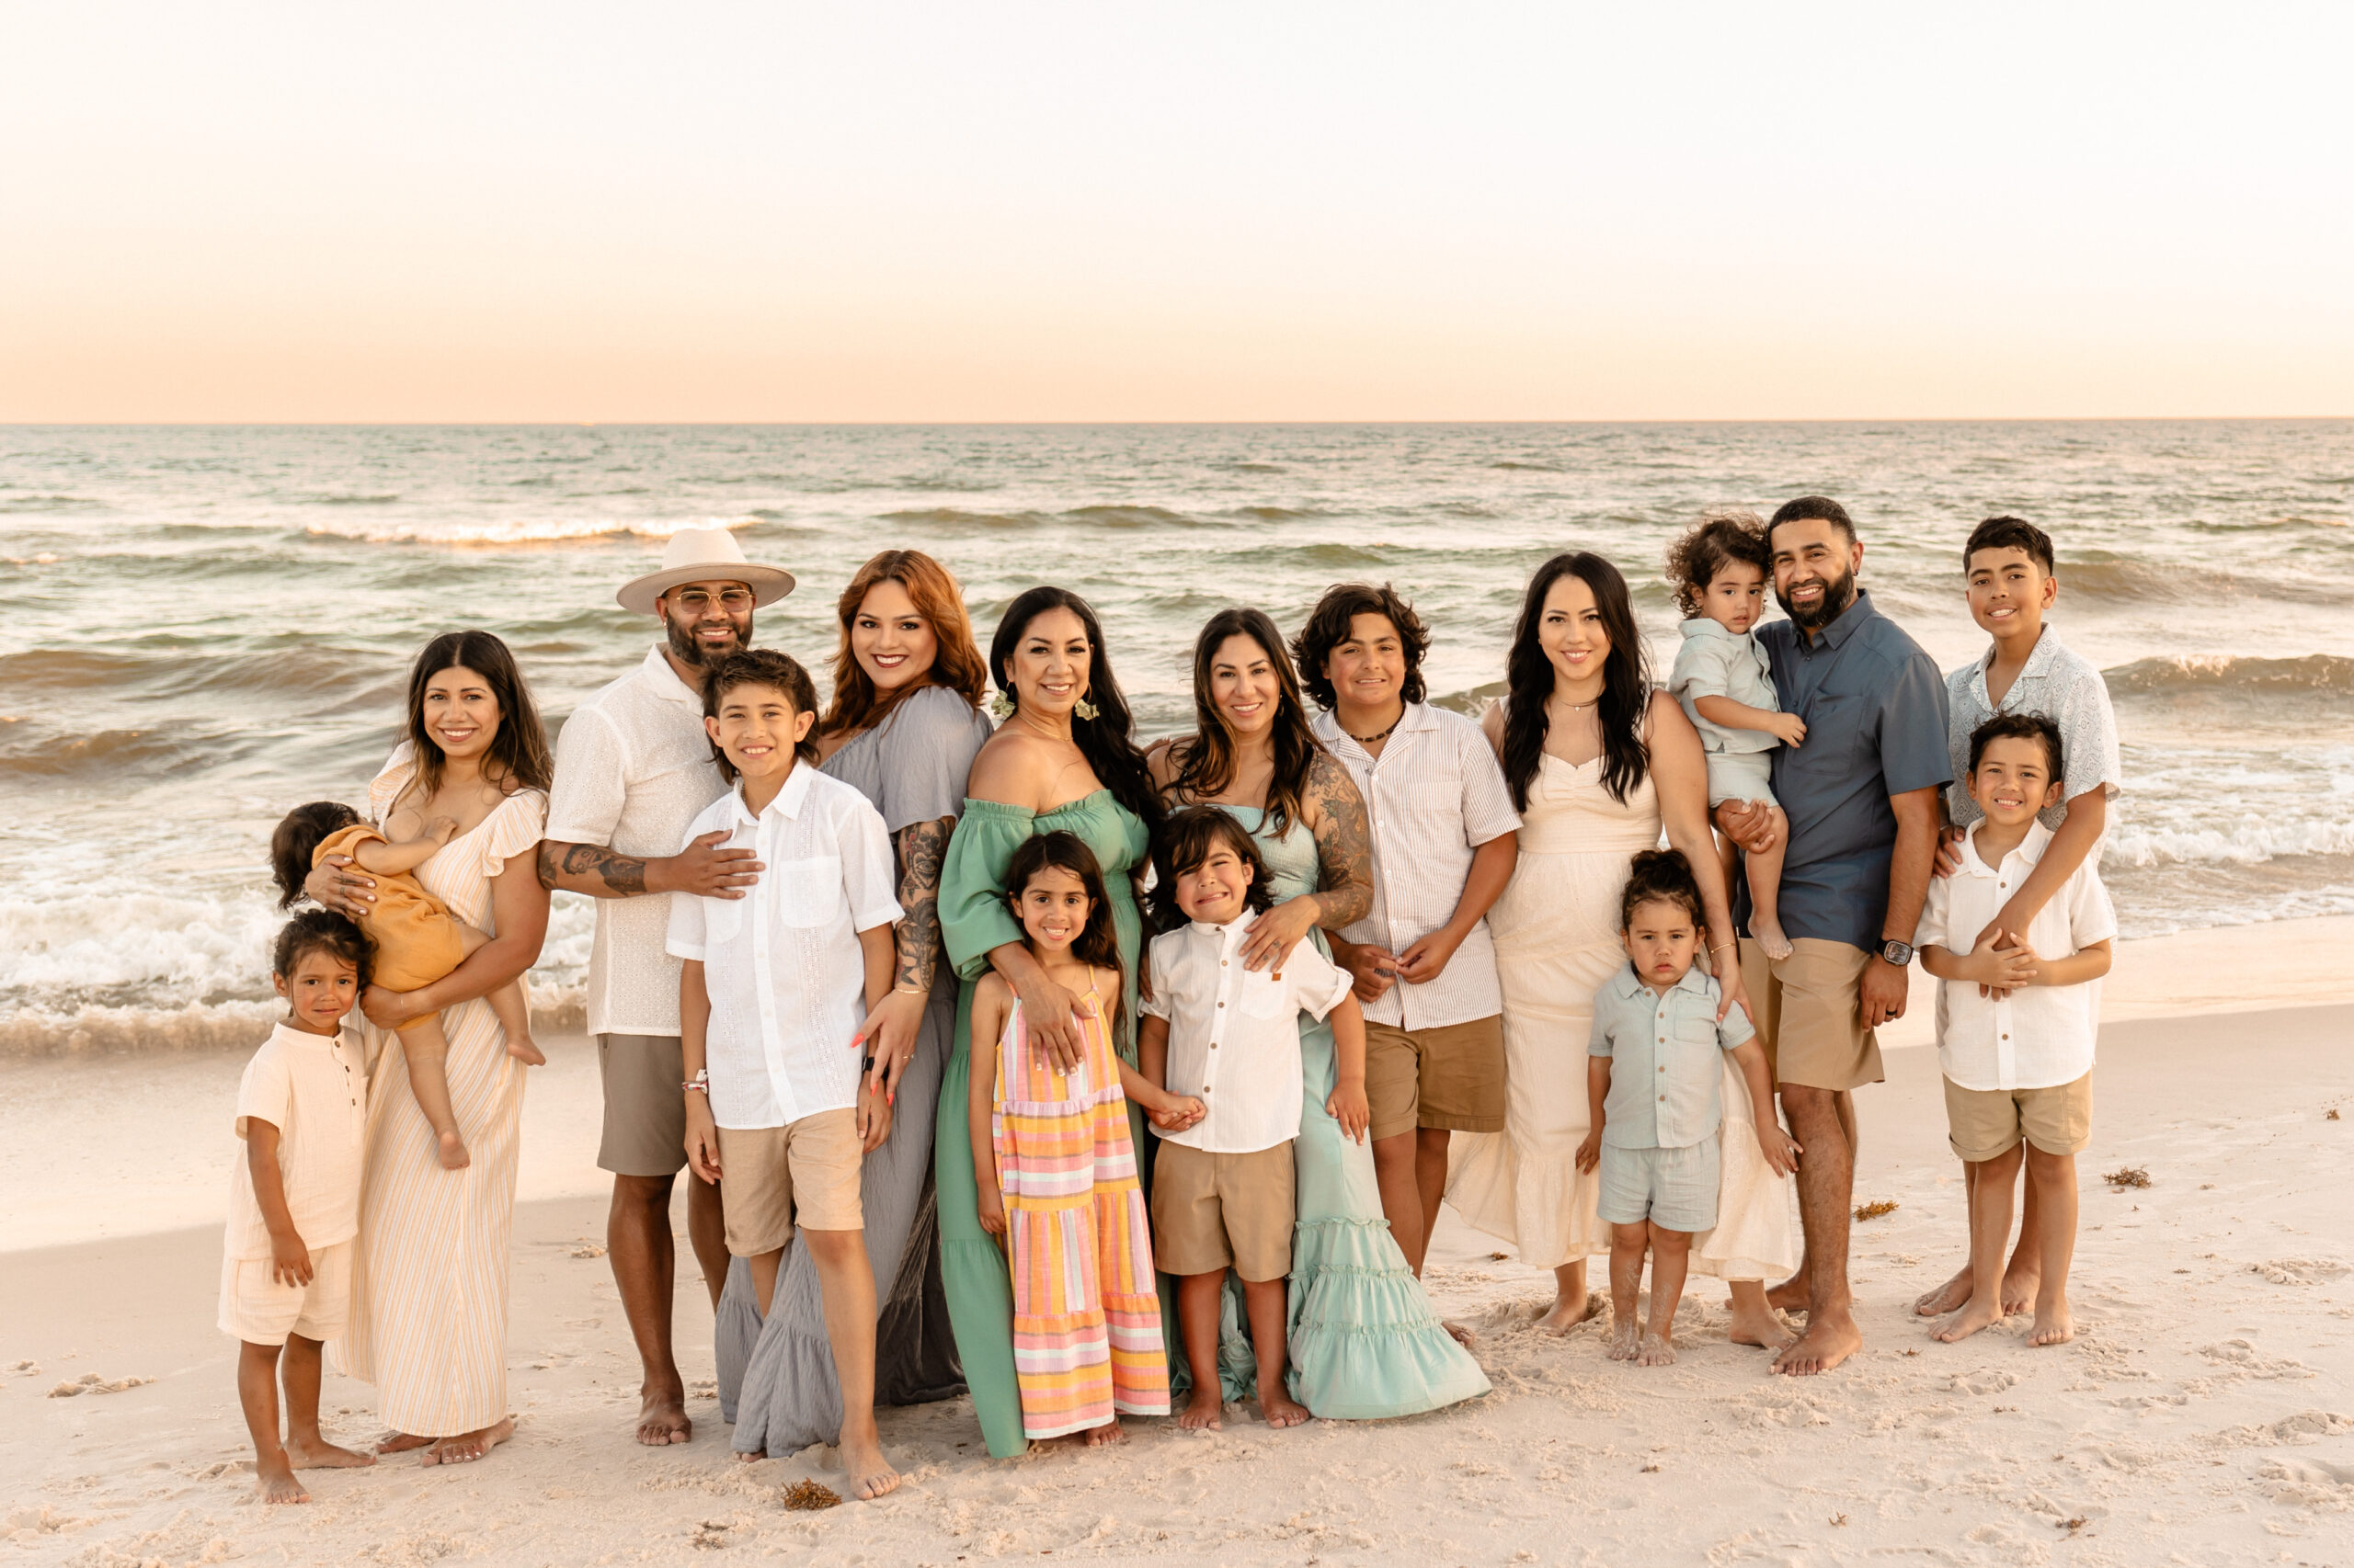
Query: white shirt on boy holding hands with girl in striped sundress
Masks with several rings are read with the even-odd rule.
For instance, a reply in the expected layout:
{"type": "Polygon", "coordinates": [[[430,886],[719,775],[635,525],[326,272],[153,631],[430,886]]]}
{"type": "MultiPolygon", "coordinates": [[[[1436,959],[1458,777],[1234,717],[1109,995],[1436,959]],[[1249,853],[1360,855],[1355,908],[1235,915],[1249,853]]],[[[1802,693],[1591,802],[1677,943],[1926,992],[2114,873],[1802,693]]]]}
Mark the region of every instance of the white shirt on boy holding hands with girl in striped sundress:
{"type": "Polygon", "coordinates": [[[1314,942],[1278,970],[1243,968],[1250,921],[1191,923],[1153,937],[1153,994],[1142,1005],[1170,1024],[1168,1090],[1198,1095],[1208,1116],[1172,1144],[1257,1154],[1299,1137],[1299,1015],[1323,1017],[1349,996],[1349,975],[1314,942]]]}

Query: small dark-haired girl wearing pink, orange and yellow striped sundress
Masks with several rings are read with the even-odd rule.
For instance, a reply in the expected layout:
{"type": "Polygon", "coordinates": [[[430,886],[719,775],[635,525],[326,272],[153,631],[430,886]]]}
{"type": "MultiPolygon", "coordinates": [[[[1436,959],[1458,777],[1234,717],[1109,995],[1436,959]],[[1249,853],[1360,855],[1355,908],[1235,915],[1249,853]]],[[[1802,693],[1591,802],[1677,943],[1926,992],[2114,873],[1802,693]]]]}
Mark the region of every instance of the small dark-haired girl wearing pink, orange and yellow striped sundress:
{"type": "Polygon", "coordinates": [[[1022,1431],[1116,1443],[1121,1415],[1170,1410],[1128,1099],[1170,1130],[1201,1121],[1203,1104],[1111,1050],[1121,944],[1095,852],[1040,833],[1015,850],[1005,885],[1031,958],[1085,1003],[1080,1062],[1064,1071],[1031,1048],[1012,986],[989,975],[972,994],[972,1175],[982,1229],[1012,1257],[1022,1431]]]}

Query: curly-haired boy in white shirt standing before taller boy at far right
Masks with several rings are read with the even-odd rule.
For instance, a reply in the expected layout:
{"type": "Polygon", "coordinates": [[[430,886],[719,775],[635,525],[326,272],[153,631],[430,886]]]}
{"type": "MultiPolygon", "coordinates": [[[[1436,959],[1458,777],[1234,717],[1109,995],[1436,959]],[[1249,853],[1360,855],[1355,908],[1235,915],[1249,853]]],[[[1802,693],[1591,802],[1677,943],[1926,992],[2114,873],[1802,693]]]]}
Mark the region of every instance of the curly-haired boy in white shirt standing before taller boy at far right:
{"type": "Polygon", "coordinates": [[[1961,869],[1933,878],[1921,911],[1921,968],[1937,977],[1944,1111],[1970,1182],[1970,1300],[1937,1330],[1947,1342],[2003,1318],[2003,1245],[2022,1144],[2041,1208],[2027,1342],[2074,1337],[2067,1271],[2076,1253],[2076,1154],[2093,1135],[2093,1038],[2116,911],[2088,857],[2024,930],[1996,921],[2053,850],[2055,836],[2036,812],[2060,803],[2064,760],[2060,725],[2041,713],[1999,713],[1970,732],[1963,782],[1984,819],[1959,845],[1961,869]]]}

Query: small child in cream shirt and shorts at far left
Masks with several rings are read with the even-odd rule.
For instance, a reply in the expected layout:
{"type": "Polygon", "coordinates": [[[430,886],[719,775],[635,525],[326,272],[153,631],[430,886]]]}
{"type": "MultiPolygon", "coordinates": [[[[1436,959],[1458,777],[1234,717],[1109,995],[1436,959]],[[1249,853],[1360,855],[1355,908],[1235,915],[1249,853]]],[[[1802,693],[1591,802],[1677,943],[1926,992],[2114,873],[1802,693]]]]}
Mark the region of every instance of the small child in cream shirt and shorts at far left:
{"type": "Polygon", "coordinates": [[[367,1069],[344,1045],[341,1026],[367,984],[367,937],[344,916],[304,911],[278,932],[271,984],[287,998],[287,1019],[238,1081],[245,1158],[228,1177],[221,1333],[240,1340],[238,1403],[254,1434],[254,1500],[311,1502],[297,1469],[377,1462],[318,1429],[320,1347],[344,1333],[351,1241],[360,1234],[367,1069]]]}

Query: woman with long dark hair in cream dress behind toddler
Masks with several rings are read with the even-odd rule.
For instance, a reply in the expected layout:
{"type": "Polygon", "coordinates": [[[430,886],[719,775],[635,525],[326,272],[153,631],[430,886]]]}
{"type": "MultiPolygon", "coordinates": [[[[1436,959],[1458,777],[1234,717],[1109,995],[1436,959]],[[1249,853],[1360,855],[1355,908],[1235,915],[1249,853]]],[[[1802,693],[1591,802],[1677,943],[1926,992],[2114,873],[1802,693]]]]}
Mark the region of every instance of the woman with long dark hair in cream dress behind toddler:
{"type": "MultiPolygon", "coordinates": [[[[1700,732],[1676,699],[1653,690],[1643,633],[1620,570],[1589,551],[1554,556],[1528,582],[1504,666],[1504,702],[1483,730],[1521,812],[1521,862],[1488,916],[1504,986],[1504,1132],[1457,1137],[1448,1201],[1474,1227],[1554,1269],[1549,1333],[1591,1311],[1587,1257],[1610,1250],[1596,1215],[1596,1175],[1577,1170],[1587,1109],[1594,991],[1624,963],[1620,892],[1629,859],[1667,841],[1693,862],[1707,916],[1709,968],[1723,1005],[1747,1005],[1709,836],[1709,775],[1700,732]]],[[[1773,1107],[1761,1107],[1773,1116],[1773,1107]]],[[[1728,1069],[1728,1130],[1716,1229],[1693,1267],[1733,1281],[1733,1337],[1780,1347],[1766,1304],[1768,1269],[1796,1267],[1789,1189],[1747,1135],[1749,1088],[1728,1069]],[[1784,1257],[1787,1253],[1787,1257],[1784,1257]]]]}

